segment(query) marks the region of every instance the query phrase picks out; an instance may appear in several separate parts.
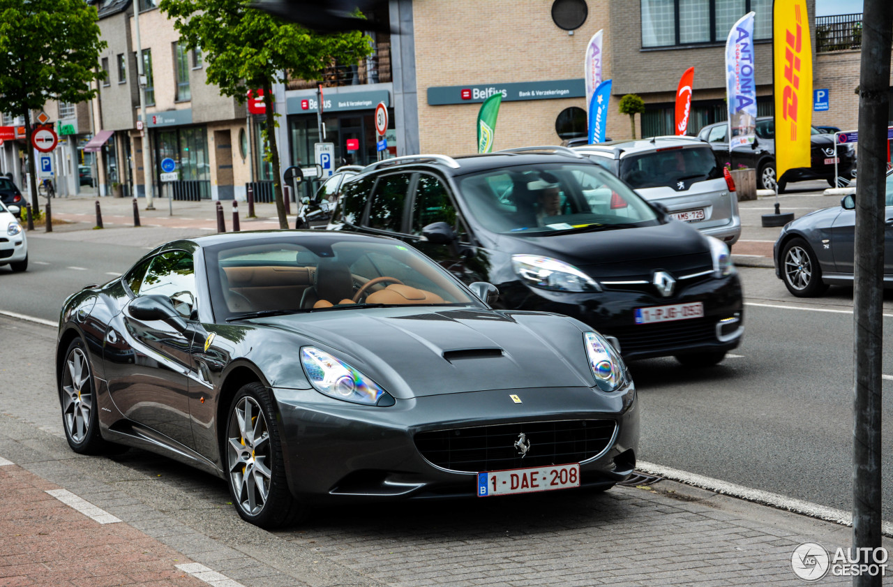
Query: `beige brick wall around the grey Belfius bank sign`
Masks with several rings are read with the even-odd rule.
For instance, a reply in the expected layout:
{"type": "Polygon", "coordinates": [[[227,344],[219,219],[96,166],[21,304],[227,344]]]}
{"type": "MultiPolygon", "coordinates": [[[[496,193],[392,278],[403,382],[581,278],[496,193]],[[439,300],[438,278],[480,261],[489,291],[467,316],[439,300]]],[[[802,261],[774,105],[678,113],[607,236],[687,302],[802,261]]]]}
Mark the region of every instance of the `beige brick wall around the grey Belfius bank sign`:
{"type": "MultiPolygon", "coordinates": [[[[568,35],[552,21],[553,0],[419,0],[413,3],[415,67],[422,153],[477,151],[480,104],[428,105],[428,88],[463,84],[572,80],[583,77],[586,46],[608,27],[608,1],[589,0],[588,17],[568,35]]],[[[603,45],[603,78],[611,78],[610,44],[603,45]]],[[[564,108],[586,109],[586,100],[562,98],[504,102],[494,149],[555,145],[555,118],[564,108]]],[[[630,122],[612,97],[608,136],[629,134],[630,122]]]]}

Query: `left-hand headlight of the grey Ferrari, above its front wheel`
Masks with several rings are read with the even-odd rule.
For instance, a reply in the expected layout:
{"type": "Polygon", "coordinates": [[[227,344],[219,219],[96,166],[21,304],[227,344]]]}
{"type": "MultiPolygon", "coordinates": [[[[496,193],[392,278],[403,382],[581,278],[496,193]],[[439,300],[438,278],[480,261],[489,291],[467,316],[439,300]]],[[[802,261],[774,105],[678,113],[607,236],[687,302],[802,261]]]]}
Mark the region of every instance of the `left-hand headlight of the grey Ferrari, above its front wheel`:
{"type": "Polygon", "coordinates": [[[393,405],[393,398],[387,391],[354,367],[319,348],[302,348],[301,364],[310,384],[330,398],[367,406],[378,405],[382,398],[389,398],[388,405],[393,405]]]}

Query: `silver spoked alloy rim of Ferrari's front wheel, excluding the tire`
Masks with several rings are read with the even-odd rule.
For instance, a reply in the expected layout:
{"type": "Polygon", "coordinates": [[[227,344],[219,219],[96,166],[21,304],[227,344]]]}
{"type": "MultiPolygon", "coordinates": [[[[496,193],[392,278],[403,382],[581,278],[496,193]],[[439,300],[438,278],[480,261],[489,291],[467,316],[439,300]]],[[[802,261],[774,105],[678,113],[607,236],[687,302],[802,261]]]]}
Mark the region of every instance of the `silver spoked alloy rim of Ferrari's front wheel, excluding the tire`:
{"type": "Polygon", "coordinates": [[[270,496],[272,458],[270,431],[255,398],[241,398],[230,414],[227,456],[238,506],[249,516],[260,514],[270,496]]]}

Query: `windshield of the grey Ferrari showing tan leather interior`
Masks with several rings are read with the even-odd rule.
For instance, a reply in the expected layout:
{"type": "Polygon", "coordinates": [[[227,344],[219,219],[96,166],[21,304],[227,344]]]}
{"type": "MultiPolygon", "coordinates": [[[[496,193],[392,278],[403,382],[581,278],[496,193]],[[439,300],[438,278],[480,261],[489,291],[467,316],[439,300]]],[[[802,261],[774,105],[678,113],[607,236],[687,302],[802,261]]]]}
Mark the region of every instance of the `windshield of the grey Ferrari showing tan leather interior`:
{"type": "Polygon", "coordinates": [[[437,264],[392,239],[295,232],[204,251],[218,319],[363,306],[480,306],[437,264]]]}

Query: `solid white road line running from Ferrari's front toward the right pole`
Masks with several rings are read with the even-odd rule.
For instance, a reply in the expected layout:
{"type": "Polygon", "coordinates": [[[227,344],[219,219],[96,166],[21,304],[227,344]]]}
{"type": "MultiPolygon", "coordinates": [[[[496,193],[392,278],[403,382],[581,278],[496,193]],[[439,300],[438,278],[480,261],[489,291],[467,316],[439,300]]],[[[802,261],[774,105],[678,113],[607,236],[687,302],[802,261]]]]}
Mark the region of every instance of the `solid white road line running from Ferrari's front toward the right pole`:
{"type": "MultiPolygon", "coordinates": [[[[746,501],[763,504],[764,506],[784,509],[789,512],[794,512],[795,514],[810,516],[835,524],[843,524],[846,526],[851,526],[853,524],[853,516],[850,512],[845,512],[842,509],[837,509],[835,507],[820,506],[817,503],[804,501],[803,499],[789,498],[784,495],[779,495],[778,493],[772,493],[771,491],[755,490],[750,487],[745,487],[744,485],[721,481],[719,479],[714,479],[713,477],[705,477],[704,475],[689,473],[688,471],[680,471],[679,469],[646,463],[644,461],[638,461],[636,463],[636,468],[646,473],[660,475],[666,479],[672,479],[672,481],[700,487],[707,491],[715,491],[716,493],[722,493],[722,495],[728,495],[733,498],[744,499],[746,501]]],[[[893,537],[893,522],[882,521],[880,523],[880,532],[885,536],[893,537]]]]}

